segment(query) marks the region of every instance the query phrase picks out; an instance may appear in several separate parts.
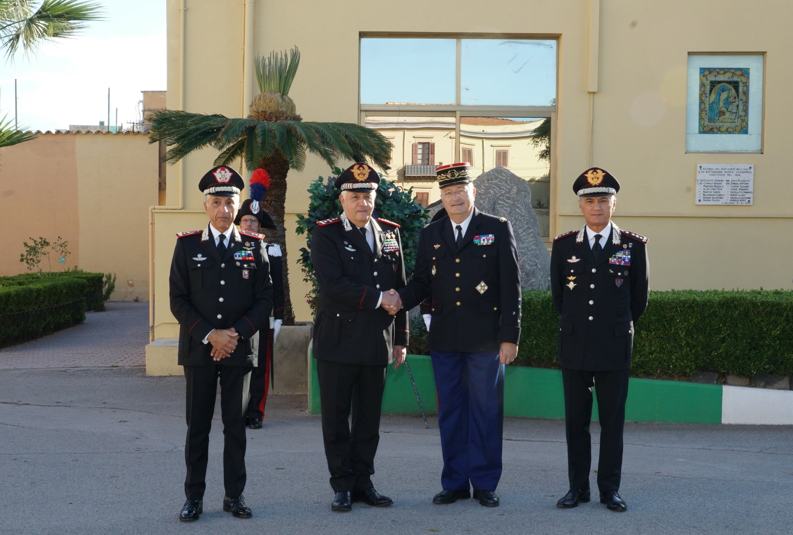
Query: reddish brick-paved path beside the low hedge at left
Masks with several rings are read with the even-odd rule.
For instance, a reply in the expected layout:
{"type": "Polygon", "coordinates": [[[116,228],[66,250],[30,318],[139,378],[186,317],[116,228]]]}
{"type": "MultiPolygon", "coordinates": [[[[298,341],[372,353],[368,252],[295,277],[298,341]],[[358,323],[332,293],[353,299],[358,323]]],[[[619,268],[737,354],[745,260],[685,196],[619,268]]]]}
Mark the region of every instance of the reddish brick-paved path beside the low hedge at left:
{"type": "Polygon", "coordinates": [[[0,369],[142,366],[147,343],[148,303],[111,301],[81,325],[0,350],[0,369]]]}

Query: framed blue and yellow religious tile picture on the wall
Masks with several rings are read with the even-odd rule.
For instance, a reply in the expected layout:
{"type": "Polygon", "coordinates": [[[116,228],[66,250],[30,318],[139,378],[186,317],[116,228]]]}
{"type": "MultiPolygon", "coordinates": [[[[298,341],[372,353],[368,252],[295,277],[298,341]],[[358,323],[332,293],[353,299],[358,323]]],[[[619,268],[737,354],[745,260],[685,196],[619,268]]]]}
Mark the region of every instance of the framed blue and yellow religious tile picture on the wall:
{"type": "Polygon", "coordinates": [[[689,54],[686,152],[760,152],[763,54],[689,54]]]}

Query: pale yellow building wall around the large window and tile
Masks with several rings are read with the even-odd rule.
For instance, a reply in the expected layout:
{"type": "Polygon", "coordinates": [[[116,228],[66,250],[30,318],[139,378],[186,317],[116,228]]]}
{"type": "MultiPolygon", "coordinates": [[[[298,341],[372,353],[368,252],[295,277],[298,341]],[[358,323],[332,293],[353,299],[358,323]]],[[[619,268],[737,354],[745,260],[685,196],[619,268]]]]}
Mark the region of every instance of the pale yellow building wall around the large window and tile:
{"type": "MultiPolygon", "coordinates": [[[[180,0],[168,0],[169,107],[242,113],[247,105],[242,102],[241,87],[243,2],[186,0],[183,103],[179,98],[179,5],[180,0]]],[[[791,277],[785,269],[789,253],[780,249],[779,240],[793,231],[786,147],[793,114],[786,105],[787,88],[793,82],[793,71],[787,68],[793,60],[787,39],[793,5],[760,2],[752,17],[740,17],[737,22],[735,13],[745,11],[745,2],[737,0],[602,0],[596,24],[600,27],[600,48],[592,51],[599,62],[594,63],[599,65],[599,91],[593,98],[587,92],[589,6],[587,0],[493,0],[487,9],[473,0],[255,2],[254,46],[259,54],[295,44],[300,47],[301,66],[289,95],[304,120],[357,123],[362,33],[557,36],[550,231],[555,234],[582,224],[572,183],[590,164],[592,131],[592,162],[610,170],[623,183],[616,220],[650,237],[653,289],[791,288],[791,277]],[[705,21],[707,30],[703,30],[705,21]],[[740,31],[723,30],[736,25],[740,31]],[[772,111],[764,117],[763,155],[685,154],[684,73],[688,52],[767,53],[765,107],[772,111]],[[647,93],[661,95],[664,110],[655,124],[642,126],[632,117],[647,93]],[[754,163],[755,204],[695,206],[697,162],[754,163]],[[736,242],[741,244],[739,248],[736,242]],[[757,258],[763,258],[764,269],[757,269],[757,258]]],[[[213,151],[207,150],[186,159],[183,176],[187,208],[201,206],[196,182],[211,166],[213,157],[213,151]]],[[[293,233],[294,217],[305,211],[308,184],[329,171],[312,157],[303,172],[289,174],[285,208],[290,267],[294,266],[297,250],[305,245],[305,237],[293,233]]],[[[168,204],[178,204],[178,187],[173,187],[176,182],[169,181],[168,204]]],[[[194,216],[181,217],[183,224],[173,224],[167,232],[157,230],[157,239],[164,236],[170,240],[167,236],[171,231],[194,226],[194,216]]],[[[170,259],[163,261],[162,255],[158,258],[155,317],[159,322],[172,317],[167,310],[167,292],[159,290],[159,281],[167,278],[170,259]]],[[[298,269],[293,267],[292,273],[297,319],[310,319],[308,306],[301,299],[306,285],[298,269]]]]}

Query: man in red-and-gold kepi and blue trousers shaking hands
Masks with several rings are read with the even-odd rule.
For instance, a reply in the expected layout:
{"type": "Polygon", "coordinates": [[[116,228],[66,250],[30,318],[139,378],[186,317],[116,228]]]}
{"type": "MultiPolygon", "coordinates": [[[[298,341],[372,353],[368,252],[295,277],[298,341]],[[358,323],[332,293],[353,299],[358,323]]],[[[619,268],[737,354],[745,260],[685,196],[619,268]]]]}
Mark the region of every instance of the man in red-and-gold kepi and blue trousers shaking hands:
{"type": "MultiPolygon", "coordinates": [[[[468,163],[436,170],[446,216],[419,235],[405,309],[431,297],[430,355],[438,392],[442,492],[433,503],[474,498],[498,506],[504,365],[520,339],[520,272],[504,217],[479,212],[468,163]]],[[[425,303],[427,301],[424,301],[425,303]]]]}

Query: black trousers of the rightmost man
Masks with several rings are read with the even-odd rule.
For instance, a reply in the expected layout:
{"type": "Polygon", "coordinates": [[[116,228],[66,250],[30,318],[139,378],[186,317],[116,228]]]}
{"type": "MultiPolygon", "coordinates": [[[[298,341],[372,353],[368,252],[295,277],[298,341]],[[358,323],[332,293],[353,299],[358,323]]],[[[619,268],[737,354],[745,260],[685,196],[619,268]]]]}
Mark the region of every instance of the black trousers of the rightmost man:
{"type": "Polygon", "coordinates": [[[628,370],[588,372],[562,368],[561,380],[565,387],[565,431],[570,488],[584,491],[589,489],[589,469],[592,466],[589,423],[592,420],[594,386],[600,415],[597,486],[601,492],[619,491],[623,469],[628,370]]]}

